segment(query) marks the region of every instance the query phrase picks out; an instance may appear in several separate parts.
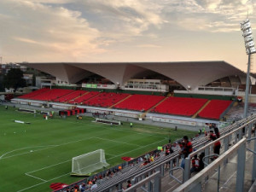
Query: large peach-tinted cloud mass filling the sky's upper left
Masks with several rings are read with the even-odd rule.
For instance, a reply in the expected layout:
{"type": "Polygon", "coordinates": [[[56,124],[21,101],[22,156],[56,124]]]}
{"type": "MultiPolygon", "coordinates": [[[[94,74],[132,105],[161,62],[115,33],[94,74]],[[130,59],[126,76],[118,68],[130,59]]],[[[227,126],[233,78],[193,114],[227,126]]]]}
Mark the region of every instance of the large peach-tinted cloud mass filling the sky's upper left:
{"type": "Polygon", "coordinates": [[[42,3],[3,0],[0,12],[3,53],[21,50],[27,58],[55,54],[75,59],[104,52],[97,44],[101,32],[91,27],[79,11],[42,3]],[[34,53],[35,44],[37,53],[34,53]]]}

